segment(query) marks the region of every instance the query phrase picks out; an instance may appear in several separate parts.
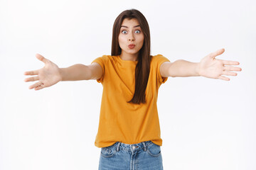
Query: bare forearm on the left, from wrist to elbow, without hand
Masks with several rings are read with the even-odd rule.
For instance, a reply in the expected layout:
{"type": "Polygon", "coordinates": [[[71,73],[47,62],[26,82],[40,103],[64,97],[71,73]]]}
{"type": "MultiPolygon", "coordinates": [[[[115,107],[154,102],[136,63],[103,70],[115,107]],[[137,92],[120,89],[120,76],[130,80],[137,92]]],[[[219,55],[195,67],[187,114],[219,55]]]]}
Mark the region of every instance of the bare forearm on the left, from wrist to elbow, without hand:
{"type": "Polygon", "coordinates": [[[88,80],[90,69],[84,64],[75,64],[67,68],[60,68],[61,81],[88,80]]]}

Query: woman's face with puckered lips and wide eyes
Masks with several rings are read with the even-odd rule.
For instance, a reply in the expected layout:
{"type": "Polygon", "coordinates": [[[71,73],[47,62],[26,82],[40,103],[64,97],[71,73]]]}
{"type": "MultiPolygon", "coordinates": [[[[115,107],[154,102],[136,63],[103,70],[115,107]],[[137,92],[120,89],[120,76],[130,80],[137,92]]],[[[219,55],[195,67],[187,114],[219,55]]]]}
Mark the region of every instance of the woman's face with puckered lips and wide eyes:
{"type": "Polygon", "coordinates": [[[125,18],[118,36],[122,55],[138,55],[144,43],[144,34],[136,18],[125,18]]]}

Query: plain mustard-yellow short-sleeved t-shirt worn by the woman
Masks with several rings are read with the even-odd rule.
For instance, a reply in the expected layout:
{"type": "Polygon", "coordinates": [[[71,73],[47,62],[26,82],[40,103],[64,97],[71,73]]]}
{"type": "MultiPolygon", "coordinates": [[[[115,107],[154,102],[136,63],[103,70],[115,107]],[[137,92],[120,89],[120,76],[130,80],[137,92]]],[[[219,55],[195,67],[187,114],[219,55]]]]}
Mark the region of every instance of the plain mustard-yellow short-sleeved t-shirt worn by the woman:
{"type": "Polygon", "coordinates": [[[103,55],[93,60],[103,69],[100,122],[95,139],[96,147],[108,147],[115,142],[137,144],[151,140],[162,145],[156,101],[158,89],[167,77],[161,77],[160,66],[169,60],[162,55],[151,59],[146,86],[146,103],[127,103],[134,95],[137,61],[122,60],[119,56],[103,55]]]}

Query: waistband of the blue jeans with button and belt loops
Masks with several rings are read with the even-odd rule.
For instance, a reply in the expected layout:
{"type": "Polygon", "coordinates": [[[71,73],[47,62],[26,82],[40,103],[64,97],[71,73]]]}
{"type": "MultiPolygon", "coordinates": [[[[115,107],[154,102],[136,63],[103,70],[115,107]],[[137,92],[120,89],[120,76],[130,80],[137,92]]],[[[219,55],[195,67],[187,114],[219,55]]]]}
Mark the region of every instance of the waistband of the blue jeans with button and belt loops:
{"type": "Polygon", "coordinates": [[[122,142],[116,142],[114,143],[114,147],[117,148],[117,152],[119,152],[119,150],[129,151],[129,150],[135,150],[135,149],[136,150],[144,149],[144,151],[146,151],[147,147],[152,144],[153,142],[151,142],[150,140],[145,142],[140,142],[137,144],[124,144],[122,142]]]}

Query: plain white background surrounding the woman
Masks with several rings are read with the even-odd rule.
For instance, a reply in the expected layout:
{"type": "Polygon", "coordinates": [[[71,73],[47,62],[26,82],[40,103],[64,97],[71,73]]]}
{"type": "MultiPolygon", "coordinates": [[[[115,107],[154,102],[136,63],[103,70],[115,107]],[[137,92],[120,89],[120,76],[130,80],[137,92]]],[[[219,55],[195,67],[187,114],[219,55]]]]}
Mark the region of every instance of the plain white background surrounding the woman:
{"type": "Polygon", "coordinates": [[[97,169],[102,84],[65,81],[28,90],[23,72],[39,53],[58,64],[111,54],[112,26],[136,8],[151,30],[151,55],[171,62],[240,62],[230,81],[169,78],[159,89],[164,169],[256,169],[256,3],[244,1],[0,0],[0,169],[97,169]]]}

